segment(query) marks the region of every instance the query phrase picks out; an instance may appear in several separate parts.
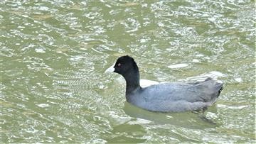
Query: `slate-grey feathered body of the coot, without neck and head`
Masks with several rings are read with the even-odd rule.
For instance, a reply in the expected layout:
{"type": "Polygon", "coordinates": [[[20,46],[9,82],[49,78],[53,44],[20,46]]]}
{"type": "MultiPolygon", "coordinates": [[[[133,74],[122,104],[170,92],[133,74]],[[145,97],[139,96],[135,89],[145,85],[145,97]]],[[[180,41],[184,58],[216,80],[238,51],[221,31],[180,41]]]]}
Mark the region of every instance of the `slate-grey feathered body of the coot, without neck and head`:
{"type": "Polygon", "coordinates": [[[210,78],[194,84],[156,84],[127,96],[127,101],[149,111],[195,111],[215,103],[222,87],[210,78]]]}

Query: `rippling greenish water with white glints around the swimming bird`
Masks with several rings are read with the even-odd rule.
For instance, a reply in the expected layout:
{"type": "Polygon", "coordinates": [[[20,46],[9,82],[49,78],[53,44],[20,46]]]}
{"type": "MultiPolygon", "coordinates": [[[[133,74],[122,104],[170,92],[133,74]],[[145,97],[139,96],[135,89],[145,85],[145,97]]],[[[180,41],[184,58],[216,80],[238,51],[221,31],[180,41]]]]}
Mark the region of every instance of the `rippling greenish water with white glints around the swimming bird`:
{"type": "Polygon", "coordinates": [[[2,143],[256,143],[255,1],[0,4],[2,143]],[[142,79],[225,82],[213,123],[125,102],[104,74],[120,55],[142,79]]]}

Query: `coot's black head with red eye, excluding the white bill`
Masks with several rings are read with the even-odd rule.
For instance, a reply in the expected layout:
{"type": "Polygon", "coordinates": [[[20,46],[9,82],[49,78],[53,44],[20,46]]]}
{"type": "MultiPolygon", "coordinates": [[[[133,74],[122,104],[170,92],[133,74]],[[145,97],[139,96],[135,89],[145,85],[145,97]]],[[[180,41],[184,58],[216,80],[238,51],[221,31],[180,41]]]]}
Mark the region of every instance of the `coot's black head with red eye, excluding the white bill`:
{"type": "Polygon", "coordinates": [[[122,74],[122,76],[124,76],[125,74],[128,74],[130,72],[137,73],[139,72],[139,69],[134,59],[132,57],[129,57],[128,55],[125,55],[117,59],[117,62],[114,64],[114,72],[117,72],[118,74],[122,74]]]}

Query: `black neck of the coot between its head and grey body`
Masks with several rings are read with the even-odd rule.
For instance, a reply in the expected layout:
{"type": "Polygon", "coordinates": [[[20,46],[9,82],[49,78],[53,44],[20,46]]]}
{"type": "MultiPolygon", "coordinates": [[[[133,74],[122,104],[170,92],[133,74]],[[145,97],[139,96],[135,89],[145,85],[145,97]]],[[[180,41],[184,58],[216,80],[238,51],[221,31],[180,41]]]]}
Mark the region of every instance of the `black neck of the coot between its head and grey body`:
{"type": "Polygon", "coordinates": [[[139,85],[139,71],[130,72],[124,77],[127,86],[126,86],[126,95],[132,94],[133,92],[141,89],[139,85]]]}

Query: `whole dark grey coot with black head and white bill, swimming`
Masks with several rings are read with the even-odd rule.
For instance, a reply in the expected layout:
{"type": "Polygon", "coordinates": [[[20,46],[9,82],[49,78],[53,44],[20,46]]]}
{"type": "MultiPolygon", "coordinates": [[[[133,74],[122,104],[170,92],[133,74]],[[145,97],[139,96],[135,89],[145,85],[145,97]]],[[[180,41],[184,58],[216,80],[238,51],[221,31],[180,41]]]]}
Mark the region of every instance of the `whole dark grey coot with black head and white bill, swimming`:
{"type": "Polygon", "coordinates": [[[127,102],[149,111],[205,110],[215,103],[223,89],[223,83],[210,77],[203,82],[169,82],[142,88],[139,84],[139,67],[129,55],[119,57],[107,72],[116,72],[124,77],[127,102]]]}

